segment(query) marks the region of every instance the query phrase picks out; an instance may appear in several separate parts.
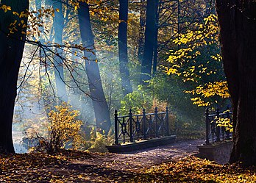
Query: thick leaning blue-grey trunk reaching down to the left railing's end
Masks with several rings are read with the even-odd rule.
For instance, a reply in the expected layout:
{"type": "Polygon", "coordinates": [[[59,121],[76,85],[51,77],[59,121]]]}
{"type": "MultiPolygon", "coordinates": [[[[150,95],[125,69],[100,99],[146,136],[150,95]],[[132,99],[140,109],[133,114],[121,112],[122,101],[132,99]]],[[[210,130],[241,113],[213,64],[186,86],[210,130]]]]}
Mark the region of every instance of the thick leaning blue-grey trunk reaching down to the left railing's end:
{"type": "Polygon", "coordinates": [[[96,49],[94,36],[90,25],[90,13],[88,4],[79,2],[78,18],[82,38],[82,45],[85,47],[85,69],[88,76],[90,97],[93,100],[93,108],[98,128],[108,132],[110,129],[110,112],[102,88],[102,79],[99,73],[99,66],[96,61],[96,49]]]}

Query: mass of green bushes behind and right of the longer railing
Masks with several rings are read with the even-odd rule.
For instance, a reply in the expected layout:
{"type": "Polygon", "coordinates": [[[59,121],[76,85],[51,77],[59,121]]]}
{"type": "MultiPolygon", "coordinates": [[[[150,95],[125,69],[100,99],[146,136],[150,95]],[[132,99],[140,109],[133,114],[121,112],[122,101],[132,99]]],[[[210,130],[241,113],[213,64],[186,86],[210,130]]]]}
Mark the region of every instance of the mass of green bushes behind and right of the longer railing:
{"type": "Polygon", "coordinates": [[[118,114],[128,115],[130,107],[133,114],[141,114],[143,107],[146,113],[154,112],[155,107],[158,112],[164,112],[168,107],[170,132],[178,134],[179,137],[202,137],[200,130],[205,124],[202,118],[204,110],[193,105],[191,98],[183,93],[186,87],[187,84],[180,79],[158,73],[149,81],[149,85],[140,85],[137,90],[124,97],[118,114]],[[190,135],[194,130],[198,133],[190,135]]]}

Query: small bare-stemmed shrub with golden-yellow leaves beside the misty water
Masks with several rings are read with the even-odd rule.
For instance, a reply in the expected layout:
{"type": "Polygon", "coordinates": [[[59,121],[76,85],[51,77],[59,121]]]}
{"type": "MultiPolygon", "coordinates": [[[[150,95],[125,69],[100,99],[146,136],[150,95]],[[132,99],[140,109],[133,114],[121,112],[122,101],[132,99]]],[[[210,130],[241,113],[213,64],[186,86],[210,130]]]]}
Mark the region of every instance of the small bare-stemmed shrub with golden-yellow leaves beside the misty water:
{"type": "Polygon", "coordinates": [[[60,148],[78,148],[82,141],[82,121],[77,120],[78,115],[79,112],[71,110],[68,104],[55,106],[55,110],[49,112],[49,126],[45,137],[38,132],[29,135],[31,140],[38,142],[34,149],[53,154],[60,148]]]}

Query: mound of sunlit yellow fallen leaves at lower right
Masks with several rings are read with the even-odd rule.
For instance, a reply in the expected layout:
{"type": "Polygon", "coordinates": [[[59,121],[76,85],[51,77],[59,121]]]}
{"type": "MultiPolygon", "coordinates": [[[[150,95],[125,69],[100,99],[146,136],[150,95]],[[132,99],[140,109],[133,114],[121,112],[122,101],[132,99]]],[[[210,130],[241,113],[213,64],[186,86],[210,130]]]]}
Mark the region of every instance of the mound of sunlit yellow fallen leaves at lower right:
{"type": "Polygon", "coordinates": [[[255,167],[241,164],[218,165],[215,162],[186,157],[178,162],[166,162],[142,171],[129,182],[255,182],[255,167]]]}

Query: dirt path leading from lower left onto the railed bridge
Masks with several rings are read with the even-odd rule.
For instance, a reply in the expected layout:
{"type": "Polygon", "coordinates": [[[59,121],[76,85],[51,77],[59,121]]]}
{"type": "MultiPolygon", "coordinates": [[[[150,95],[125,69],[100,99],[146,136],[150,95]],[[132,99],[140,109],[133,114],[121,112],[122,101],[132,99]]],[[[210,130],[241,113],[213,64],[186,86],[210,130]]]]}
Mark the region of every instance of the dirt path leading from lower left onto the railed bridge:
{"type": "Polygon", "coordinates": [[[204,140],[190,140],[127,154],[93,154],[91,159],[75,160],[68,169],[77,171],[82,168],[90,175],[87,182],[124,182],[136,176],[142,168],[197,154],[196,146],[202,143],[204,140]]]}

